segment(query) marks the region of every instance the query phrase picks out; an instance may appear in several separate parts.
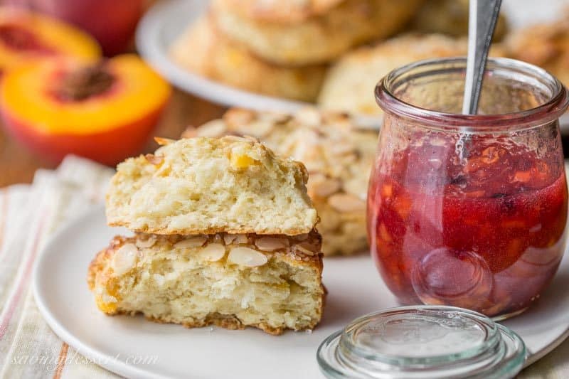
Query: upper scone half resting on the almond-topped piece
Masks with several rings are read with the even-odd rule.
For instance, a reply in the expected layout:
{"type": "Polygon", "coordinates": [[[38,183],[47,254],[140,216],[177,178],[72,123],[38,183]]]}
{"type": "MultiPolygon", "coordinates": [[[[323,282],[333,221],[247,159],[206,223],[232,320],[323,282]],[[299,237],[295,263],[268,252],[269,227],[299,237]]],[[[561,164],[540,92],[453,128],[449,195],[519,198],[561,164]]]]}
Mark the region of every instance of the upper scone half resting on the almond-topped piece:
{"type": "Polygon", "coordinates": [[[307,179],[304,165],[255,139],[166,142],[117,166],[107,223],[156,234],[308,233],[318,216],[307,179]]]}

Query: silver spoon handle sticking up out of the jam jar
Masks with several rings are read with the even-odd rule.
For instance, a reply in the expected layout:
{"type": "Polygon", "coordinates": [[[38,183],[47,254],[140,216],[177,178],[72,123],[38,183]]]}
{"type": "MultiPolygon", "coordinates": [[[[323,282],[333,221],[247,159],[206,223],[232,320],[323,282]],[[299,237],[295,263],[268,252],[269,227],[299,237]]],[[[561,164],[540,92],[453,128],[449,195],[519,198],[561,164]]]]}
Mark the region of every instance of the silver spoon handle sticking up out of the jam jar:
{"type": "Polygon", "coordinates": [[[484,68],[501,0],[470,0],[468,18],[468,57],[464,83],[463,114],[476,114],[482,90],[484,68]]]}

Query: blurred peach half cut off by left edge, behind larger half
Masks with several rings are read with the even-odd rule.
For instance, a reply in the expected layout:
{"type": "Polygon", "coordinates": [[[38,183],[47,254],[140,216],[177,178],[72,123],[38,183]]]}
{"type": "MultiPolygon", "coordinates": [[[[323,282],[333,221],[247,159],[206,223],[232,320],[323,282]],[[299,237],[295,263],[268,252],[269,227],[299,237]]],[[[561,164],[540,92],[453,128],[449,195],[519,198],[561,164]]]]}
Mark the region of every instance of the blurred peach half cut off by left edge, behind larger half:
{"type": "Polygon", "coordinates": [[[0,6],[0,73],[49,56],[100,57],[97,41],[68,23],[24,9],[0,6]]]}

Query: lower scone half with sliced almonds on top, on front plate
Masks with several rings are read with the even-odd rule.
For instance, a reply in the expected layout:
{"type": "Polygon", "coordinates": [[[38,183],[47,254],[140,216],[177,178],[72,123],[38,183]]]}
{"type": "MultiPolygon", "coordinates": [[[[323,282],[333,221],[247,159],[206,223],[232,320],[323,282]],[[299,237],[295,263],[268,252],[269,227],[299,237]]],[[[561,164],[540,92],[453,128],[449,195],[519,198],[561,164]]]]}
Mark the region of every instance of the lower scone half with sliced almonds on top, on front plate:
{"type": "Polygon", "coordinates": [[[313,329],[322,314],[320,236],[115,237],[87,282],[105,314],[267,333],[313,329]]]}

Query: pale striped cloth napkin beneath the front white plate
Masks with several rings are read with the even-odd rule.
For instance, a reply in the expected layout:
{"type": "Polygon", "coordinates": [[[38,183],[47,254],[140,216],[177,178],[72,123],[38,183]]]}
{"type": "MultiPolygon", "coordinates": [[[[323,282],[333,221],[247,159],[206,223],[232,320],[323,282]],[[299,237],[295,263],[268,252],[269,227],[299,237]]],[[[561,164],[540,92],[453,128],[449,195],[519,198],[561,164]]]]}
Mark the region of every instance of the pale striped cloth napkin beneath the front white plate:
{"type": "MultiPolygon", "coordinates": [[[[116,378],[55,336],[30,286],[46,240],[102,201],[112,174],[70,156],[55,171],[37,171],[31,186],[0,189],[0,378],[116,378]]],[[[569,378],[569,340],[519,378],[569,378]]]]}

